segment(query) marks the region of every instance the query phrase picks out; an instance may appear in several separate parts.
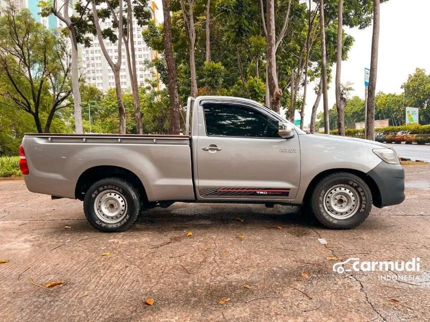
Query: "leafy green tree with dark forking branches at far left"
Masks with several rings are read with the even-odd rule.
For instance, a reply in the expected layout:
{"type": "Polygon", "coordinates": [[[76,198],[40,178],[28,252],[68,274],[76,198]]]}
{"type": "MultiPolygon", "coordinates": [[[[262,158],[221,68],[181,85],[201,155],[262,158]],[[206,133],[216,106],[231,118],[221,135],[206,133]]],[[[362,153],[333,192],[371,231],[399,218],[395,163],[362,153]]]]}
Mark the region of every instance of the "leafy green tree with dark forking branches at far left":
{"type": "Polygon", "coordinates": [[[32,116],[37,132],[48,133],[60,109],[69,106],[70,55],[61,36],[11,4],[0,18],[2,106],[32,116]]]}

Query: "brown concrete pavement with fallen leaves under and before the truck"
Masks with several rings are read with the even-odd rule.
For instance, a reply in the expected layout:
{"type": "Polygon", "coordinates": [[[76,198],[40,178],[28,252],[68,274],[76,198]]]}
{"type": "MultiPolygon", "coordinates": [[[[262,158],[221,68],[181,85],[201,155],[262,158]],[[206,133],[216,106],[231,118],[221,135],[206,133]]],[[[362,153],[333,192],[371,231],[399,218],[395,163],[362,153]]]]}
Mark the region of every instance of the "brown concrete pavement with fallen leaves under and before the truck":
{"type": "Polygon", "coordinates": [[[10,261],[0,264],[0,320],[428,321],[430,166],[406,173],[405,202],[348,231],[325,230],[293,207],[178,203],[106,234],[86,223],[81,202],[0,181],[0,259],[10,261]],[[419,257],[419,280],[340,275],[330,256],[419,257]]]}

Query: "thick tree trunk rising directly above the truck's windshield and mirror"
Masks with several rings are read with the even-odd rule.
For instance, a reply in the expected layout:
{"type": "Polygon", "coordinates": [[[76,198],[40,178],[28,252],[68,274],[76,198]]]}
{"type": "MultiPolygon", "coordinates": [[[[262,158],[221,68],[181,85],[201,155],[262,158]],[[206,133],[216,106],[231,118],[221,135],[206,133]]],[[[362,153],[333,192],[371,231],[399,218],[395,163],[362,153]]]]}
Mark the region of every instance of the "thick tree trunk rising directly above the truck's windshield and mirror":
{"type": "Polygon", "coordinates": [[[277,82],[276,70],[276,30],[274,24],[274,0],[266,1],[266,29],[267,29],[267,72],[270,97],[270,108],[279,113],[282,90],[277,82]]]}

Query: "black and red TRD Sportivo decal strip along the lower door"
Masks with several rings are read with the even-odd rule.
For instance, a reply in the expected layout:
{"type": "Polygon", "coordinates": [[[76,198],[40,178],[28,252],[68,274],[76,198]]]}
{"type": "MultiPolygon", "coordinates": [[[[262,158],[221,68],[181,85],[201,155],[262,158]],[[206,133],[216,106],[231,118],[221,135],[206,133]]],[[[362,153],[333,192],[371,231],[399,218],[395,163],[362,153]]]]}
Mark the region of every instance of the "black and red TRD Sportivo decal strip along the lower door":
{"type": "Polygon", "coordinates": [[[288,197],[290,189],[277,188],[201,188],[200,196],[279,196],[288,197]]]}

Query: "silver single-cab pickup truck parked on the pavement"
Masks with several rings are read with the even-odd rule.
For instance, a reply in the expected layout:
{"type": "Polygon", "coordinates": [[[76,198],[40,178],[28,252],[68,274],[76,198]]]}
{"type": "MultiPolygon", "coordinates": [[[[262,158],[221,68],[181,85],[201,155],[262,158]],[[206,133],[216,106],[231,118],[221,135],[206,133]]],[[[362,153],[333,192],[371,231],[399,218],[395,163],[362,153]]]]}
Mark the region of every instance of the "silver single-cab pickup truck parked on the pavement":
{"type": "Polygon", "coordinates": [[[306,134],[252,100],[189,99],[185,133],[25,134],[20,168],[29,191],[83,200],[105,232],[175,201],[302,204],[325,227],[347,229],[372,204],[404,200],[404,171],[386,145],[306,134]]]}

